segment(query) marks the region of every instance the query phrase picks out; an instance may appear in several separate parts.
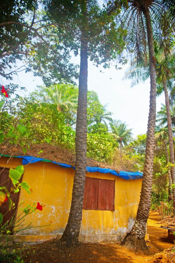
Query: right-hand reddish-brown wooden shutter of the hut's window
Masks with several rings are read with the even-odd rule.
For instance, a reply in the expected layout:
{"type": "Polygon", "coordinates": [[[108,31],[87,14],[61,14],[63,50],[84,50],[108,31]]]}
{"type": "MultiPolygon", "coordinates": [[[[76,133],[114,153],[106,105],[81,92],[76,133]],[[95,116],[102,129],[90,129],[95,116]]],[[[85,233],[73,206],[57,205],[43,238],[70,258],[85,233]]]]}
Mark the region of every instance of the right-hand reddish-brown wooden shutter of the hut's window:
{"type": "Polygon", "coordinates": [[[99,210],[114,210],[114,181],[99,180],[99,210]]]}

